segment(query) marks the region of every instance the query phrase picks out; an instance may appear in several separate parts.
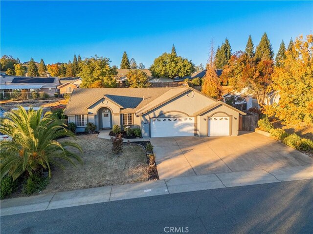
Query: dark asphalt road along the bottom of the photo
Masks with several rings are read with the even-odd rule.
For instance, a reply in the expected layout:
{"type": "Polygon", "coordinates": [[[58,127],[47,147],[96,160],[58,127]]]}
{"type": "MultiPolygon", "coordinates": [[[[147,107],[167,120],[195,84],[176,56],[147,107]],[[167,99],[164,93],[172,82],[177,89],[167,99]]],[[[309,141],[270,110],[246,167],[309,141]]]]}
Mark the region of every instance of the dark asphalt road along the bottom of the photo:
{"type": "Polygon", "coordinates": [[[161,195],[3,216],[0,228],[1,234],[312,234],[312,191],[313,180],[301,180],[161,195]]]}

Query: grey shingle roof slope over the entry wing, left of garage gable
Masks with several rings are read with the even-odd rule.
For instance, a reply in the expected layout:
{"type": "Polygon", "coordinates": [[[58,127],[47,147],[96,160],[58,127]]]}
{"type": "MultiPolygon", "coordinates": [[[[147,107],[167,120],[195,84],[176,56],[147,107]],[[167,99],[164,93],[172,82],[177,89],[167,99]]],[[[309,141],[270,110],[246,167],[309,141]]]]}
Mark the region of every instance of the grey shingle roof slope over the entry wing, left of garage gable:
{"type": "Polygon", "coordinates": [[[88,114],[88,105],[104,95],[124,108],[121,113],[134,113],[173,89],[186,88],[90,88],[75,89],[65,109],[66,115],[88,114]]]}

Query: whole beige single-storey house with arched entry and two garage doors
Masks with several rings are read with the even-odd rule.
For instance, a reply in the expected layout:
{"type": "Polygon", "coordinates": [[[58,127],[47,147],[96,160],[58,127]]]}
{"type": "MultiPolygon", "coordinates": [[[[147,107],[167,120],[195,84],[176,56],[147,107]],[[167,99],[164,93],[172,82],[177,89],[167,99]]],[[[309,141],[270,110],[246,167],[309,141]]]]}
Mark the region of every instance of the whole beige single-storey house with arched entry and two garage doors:
{"type": "Polygon", "coordinates": [[[65,109],[77,132],[91,122],[139,127],[143,137],[237,136],[239,114],[191,87],[75,89],[65,109]]]}

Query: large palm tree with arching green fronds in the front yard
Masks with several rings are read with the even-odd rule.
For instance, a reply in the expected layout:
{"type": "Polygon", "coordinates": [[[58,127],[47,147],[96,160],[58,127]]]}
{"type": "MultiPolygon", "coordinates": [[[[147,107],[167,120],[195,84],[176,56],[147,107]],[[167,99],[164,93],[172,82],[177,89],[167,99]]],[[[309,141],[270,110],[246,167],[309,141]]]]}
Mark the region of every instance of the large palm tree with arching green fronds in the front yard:
{"type": "Polygon", "coordinates": [[[66,129],[61,121],[55,119],[51,112],[43,109],[28,112],[21,106],[18,110],[8,112],[0,120],[0,132],[13,138],[12,141],[0,142],[0,175],[9,174],[15,180],[24,172],[32,175],[33,172],[47,169],[51,177],[51,164],[61,167],[64,159],[75,166],[74,160],[82,163],[80,156],[71,152],[71,149],[81,147],[71,141],[57,141],[60,137],[75,137],[66,129]]]}

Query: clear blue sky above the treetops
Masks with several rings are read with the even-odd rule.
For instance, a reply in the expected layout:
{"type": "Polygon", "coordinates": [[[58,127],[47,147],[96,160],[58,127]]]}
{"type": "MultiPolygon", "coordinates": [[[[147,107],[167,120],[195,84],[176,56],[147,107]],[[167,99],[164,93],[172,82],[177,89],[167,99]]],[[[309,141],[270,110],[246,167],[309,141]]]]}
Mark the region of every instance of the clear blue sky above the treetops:
{"type": "Polygon", "coordinates": [[[312,33],[312,1],[2,1],[1,56],[22,62],[67,62],[97,54],[120,65],[129,58],[149,67],[172,44],[180,56],[206,63],[210,41],[227,37],[244,50],[249,34],[257,44],[266,31],[276,53],[312,33]]]}

